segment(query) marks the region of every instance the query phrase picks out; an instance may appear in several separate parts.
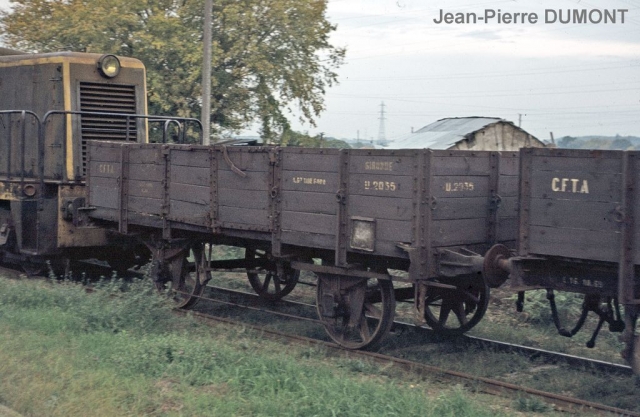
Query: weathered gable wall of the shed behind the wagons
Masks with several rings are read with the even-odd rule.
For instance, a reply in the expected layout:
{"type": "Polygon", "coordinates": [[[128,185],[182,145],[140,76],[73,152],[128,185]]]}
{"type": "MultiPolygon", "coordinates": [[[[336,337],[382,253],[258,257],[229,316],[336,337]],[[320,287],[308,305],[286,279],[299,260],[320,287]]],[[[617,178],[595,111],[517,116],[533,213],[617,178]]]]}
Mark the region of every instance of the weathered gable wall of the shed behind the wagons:
{"type": "Polygon", "coordinates": [[[494,123],[457,142],[449,149],[474,151],[517,151],[520,148],[543,148],[544,144],[510,123],[494,123]]]}

